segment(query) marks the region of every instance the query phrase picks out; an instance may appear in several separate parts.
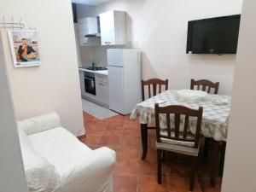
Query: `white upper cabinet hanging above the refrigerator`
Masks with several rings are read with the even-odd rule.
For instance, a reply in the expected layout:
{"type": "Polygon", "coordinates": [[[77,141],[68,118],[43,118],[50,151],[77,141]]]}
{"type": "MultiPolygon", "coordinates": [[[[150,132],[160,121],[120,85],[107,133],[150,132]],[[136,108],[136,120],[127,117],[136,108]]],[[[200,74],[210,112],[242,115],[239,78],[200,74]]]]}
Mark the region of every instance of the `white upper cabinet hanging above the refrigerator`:
{"type": "Polygon", "coordinates": [[[100,14],[102,45],[126,44],[126,13],[108,11],[100,14]]]}

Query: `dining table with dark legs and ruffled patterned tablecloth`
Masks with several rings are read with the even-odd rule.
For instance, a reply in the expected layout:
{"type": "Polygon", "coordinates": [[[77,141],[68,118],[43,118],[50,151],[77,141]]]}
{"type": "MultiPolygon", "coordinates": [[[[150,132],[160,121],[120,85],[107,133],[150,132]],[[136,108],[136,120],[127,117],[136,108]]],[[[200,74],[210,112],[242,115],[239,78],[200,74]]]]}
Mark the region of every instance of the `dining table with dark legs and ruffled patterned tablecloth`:
{"type": "MultiPolygon", "coordinates": [[[[180,90],[166,90],[160,94],[140,102],[132,110],[130,119],[139,119],[141,124],[141,137],[143,144],[142,160],[145,160],[148,152],[148,125],[155,124],[154,104],[160,106],[180,105],[187,108],[203,108],[201,120],[201,135],[212,138],[211,150],[211,183],[215,185],[215,175],[218,167],[218,151],[220,143],[225,143],[228,134],[228,122],[230,117],[231,96],[207,94],[202,98],[181,96],[180,90]]],[[[181,119],[182,120],[182,119],[181,119]]],[[[166,122],[160,122],[165,125],[166,122]]],[[[195,134],[195,127],[189,126],[189,131],[195,134]]],[[[224,155],[223,155],[224,156],[224,155]]],[[[222,157],[224,158],[224,157],[222,157]]]]}

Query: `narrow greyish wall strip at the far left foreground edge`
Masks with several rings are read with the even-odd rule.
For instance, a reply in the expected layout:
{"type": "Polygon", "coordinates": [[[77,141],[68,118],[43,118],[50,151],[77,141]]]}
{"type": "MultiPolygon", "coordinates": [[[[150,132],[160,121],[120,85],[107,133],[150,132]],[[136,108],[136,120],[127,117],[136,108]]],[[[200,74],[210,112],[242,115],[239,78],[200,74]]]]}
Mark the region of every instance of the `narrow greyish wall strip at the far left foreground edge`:
{"type": "Polygon", "coordinates": [[[0,37],[0,191],[27,192],[18,130],[0,37]]]}

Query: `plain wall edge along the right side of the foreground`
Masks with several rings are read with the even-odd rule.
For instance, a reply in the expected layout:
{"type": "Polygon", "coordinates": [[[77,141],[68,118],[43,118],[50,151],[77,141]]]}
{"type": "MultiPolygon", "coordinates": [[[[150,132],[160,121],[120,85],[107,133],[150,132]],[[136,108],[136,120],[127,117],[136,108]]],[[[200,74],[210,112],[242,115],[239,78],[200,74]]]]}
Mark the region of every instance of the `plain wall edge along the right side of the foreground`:
{"type": "Polygon", "coordinates": [[[256,2],[244,0],[232,95],[223,192],[256,191],[256,2]]]}

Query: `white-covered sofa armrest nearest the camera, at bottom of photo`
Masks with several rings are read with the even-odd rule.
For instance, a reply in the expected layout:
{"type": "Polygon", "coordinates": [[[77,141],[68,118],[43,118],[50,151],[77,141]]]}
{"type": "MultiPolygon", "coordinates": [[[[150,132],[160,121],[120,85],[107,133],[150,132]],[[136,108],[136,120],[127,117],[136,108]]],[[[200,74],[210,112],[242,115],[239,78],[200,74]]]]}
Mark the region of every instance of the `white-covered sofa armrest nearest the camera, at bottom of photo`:
{"type": "Polygon", "coordinates": [[[61,174],[61,186],[56,192],[111,191],[115,163],[116,154],[110,148],[97,148],[89,154],[81,154],[80,158],[70,162],[68,167],[63,167],[69,171],[61,174]]]}

